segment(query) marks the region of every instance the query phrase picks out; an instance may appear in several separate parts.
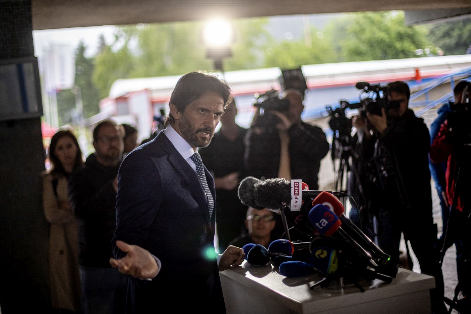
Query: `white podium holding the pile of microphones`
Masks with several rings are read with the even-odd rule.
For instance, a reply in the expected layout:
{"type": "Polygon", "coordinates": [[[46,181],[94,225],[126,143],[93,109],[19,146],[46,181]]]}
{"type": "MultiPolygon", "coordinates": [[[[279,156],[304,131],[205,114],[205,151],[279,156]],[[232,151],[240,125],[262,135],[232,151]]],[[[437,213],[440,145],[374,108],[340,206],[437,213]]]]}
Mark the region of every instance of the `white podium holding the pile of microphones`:
{"type": "Polygon", "coordinates": [[[321,279],[286,278],[272,265],[231,267],[219,273],[227,314],[365,314],[427,313],[430,314],[430,292],[435,278],[399,269],[387,284],[379,280],[360,282],[365,292],[346,282],[330,287],[309,289],[321,279]]]}

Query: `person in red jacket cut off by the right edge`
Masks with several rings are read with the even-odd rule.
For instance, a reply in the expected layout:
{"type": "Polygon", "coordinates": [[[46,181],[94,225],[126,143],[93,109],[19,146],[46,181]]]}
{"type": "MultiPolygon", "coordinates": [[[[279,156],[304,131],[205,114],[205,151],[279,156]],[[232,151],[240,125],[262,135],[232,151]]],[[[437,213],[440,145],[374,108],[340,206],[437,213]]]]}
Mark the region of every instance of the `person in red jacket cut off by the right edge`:
{"type": "MultiPolygon", "coordinates": [[[[471,310],[471,258],[470,241],[470,189],[471,189],[471,84],[463,89],[461,97],[450,105],[451,112],[442,124],[430,148],[430,160],[447,161],[446,196],[450,205],[447,238],[456,246],[456,268],[463,299],[458,301],[460,313],[471,310]],[[458,172],[459,171],[459,172],[458,172]],[[459,178],[458,178],[459,173],[459,178]]],[[[447,241],[448,242],[448,241],[447,241]]],[[[457,308],[458,309],[458,308],[457,308]]]]}

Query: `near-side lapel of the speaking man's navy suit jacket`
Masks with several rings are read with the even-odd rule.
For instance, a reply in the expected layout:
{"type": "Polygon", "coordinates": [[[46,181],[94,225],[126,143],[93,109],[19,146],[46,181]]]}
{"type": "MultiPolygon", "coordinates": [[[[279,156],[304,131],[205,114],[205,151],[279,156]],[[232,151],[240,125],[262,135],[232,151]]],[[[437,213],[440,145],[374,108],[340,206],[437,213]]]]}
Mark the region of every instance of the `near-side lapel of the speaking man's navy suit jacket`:
{"type": "MultiPolygon", "coordinates": [[[[209,217],[209,209],[208,209],[208,201],[206,198],[206,193],[204,193],[203,186],[198,179],[198,175],[196,174],[195,170],[191,168],[186,160],[180,155],[177,149],[173,146],[170,140],[165,136],[163,132],[160,132],[157,135],[156,140],[162,146],[167,153],[169,153],[169,161],[170,163],[177,169],[179,174],[185,179],[188,186],[190,187],[195,200],[200,205],[200,208],[203,210],[204,217],[206,218],[206,222],[211,226],[211,220],[209,217]]],[[[210,175],[211,177],[211,175],[210,175]]],[[[211,179],[212,180],[212,179],[211,179]]],[[[208,183],[209,184],[209,183],[208,183]]],[[[214,189],[214,184],[211,185],[214,189]]],[[[214,193],[213,193],[214,194],[214,193]]]]}

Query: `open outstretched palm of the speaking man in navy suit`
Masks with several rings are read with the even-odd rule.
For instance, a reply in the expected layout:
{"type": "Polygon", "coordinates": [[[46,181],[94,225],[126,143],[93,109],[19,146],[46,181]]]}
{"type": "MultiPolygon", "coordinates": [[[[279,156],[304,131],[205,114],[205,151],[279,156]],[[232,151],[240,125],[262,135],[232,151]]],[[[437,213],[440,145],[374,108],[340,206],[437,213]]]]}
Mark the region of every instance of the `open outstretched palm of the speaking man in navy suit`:
{"type": "Polygon", "coordinates": [[[157,262],[148,250],[119,240],[116,241],[116,246],[128,253],[121,259],[110,258],[111,266],[117,267],[120,273],[139,279],[150,279],[159,272],[157,262]]]}

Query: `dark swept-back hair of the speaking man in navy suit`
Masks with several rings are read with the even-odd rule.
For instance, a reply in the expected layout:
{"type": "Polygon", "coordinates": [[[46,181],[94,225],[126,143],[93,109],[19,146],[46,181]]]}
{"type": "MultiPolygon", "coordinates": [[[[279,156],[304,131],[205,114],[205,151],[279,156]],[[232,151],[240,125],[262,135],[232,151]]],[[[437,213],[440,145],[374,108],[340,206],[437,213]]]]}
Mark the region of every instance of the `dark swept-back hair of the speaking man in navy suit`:
{"type": "MultiPolygon", "coordinates": [[[[231,98],[231,89],[226,82],[219,80],[217,76],[205,72],[189,72],[183,75],[175,85],[170,97],[170,104],[175,105],[181,113],[185,111],[187,105],[196,99],[201,98],[205,93],[213,92],[222,97],[224,106],[231,98]]],[[[164,121],[167,127],[173,123],[175,118],[170,113],[164,121]]]]}

